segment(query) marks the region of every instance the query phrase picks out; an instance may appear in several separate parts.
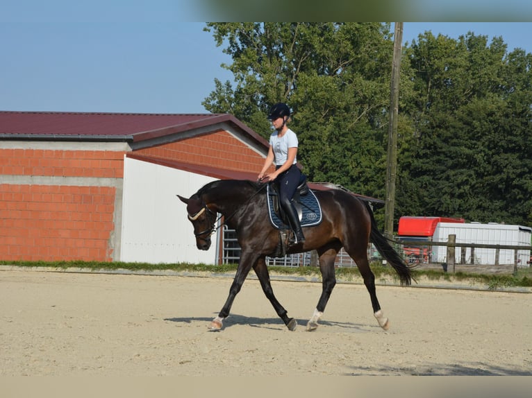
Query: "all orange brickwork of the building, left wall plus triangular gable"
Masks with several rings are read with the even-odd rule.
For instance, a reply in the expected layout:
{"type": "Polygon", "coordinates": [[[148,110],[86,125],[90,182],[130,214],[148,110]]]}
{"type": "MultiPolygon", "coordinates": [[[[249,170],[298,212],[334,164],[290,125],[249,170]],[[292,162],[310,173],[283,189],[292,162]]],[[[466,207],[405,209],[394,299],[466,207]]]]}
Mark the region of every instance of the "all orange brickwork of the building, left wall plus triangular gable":
{"type": "MultiPolygon", "coordinates": [[[[223,130],[135,153],[257,173],[264,162],[258,153],[223,130]]],[[[1,175],[123,178],[124,153],[0,149],[0,179],[1,175]]],[[[2,184],[0,180],[1,260],[113,260],[114,187],[11,182],[2,184]]]]}

